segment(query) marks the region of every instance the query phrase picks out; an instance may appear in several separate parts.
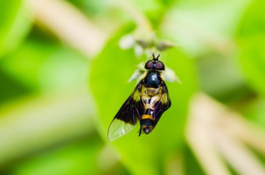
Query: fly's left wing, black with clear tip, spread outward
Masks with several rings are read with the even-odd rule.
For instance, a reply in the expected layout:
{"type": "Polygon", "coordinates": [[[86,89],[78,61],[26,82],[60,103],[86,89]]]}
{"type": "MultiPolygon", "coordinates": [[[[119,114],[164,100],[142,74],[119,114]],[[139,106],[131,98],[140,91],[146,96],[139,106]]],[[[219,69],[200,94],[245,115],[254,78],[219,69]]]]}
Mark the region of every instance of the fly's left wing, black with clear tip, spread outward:
{"type": "Polygon", "coordinates": [[[126,102],[123,103],[119,112],[114,116],[112,123],[109,125],[107,137],[110,141],[118,139],[130,132],[138,123],[142,114],[142,105],[140,92],[143,82],[139,82],[135,90],[130,94],[126,102]]]}

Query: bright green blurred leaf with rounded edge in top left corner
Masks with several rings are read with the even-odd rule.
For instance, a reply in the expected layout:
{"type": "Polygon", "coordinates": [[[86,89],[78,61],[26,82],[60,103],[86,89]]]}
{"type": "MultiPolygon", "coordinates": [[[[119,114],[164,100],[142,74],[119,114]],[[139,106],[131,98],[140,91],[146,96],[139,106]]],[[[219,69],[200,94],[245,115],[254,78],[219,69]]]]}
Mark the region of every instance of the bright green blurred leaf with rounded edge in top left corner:
{"type": "Polygon", "coordinates": [[[22,0],[0,1],[0,58],[14,50],[29,33],[31,20],[22,0]]]}

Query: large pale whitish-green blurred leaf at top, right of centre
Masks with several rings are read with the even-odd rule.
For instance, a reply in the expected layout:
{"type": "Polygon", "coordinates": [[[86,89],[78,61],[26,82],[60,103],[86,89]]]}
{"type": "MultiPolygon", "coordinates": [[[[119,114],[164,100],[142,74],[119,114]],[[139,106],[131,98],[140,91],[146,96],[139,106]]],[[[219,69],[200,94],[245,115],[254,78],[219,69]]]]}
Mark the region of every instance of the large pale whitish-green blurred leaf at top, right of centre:
{"type": "Polygon", "coordinates": [[[230,52],[229,37],[250,0],[179,0],[167,9],[160,32],[181,45],[192,56],[212,52],[230,52]]]}

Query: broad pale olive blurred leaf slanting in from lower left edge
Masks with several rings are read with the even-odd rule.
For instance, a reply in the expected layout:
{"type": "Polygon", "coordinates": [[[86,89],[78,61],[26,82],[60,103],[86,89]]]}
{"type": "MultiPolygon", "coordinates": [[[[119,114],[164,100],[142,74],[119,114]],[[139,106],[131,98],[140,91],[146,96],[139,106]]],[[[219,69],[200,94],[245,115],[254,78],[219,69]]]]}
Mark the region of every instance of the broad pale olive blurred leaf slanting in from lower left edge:
{"type": "Polygon", "coordinates": [[[35,96],[0,108],[0,167],[5,163],[93,130],[91,97],[82,91],[35,96]]]}

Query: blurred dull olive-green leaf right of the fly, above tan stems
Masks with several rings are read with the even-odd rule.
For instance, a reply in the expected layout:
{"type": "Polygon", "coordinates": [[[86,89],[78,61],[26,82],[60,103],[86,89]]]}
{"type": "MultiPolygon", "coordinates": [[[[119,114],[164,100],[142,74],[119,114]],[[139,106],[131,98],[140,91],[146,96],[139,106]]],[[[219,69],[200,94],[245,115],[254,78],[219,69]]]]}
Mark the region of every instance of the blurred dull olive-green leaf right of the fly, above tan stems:
{"type": "Polygon", "coordinates": [[[248,89],[235,62],[230,56],[217,53],[205,54],[197,59],[202,91],[222,102],[243,98],[248,89]]]}

